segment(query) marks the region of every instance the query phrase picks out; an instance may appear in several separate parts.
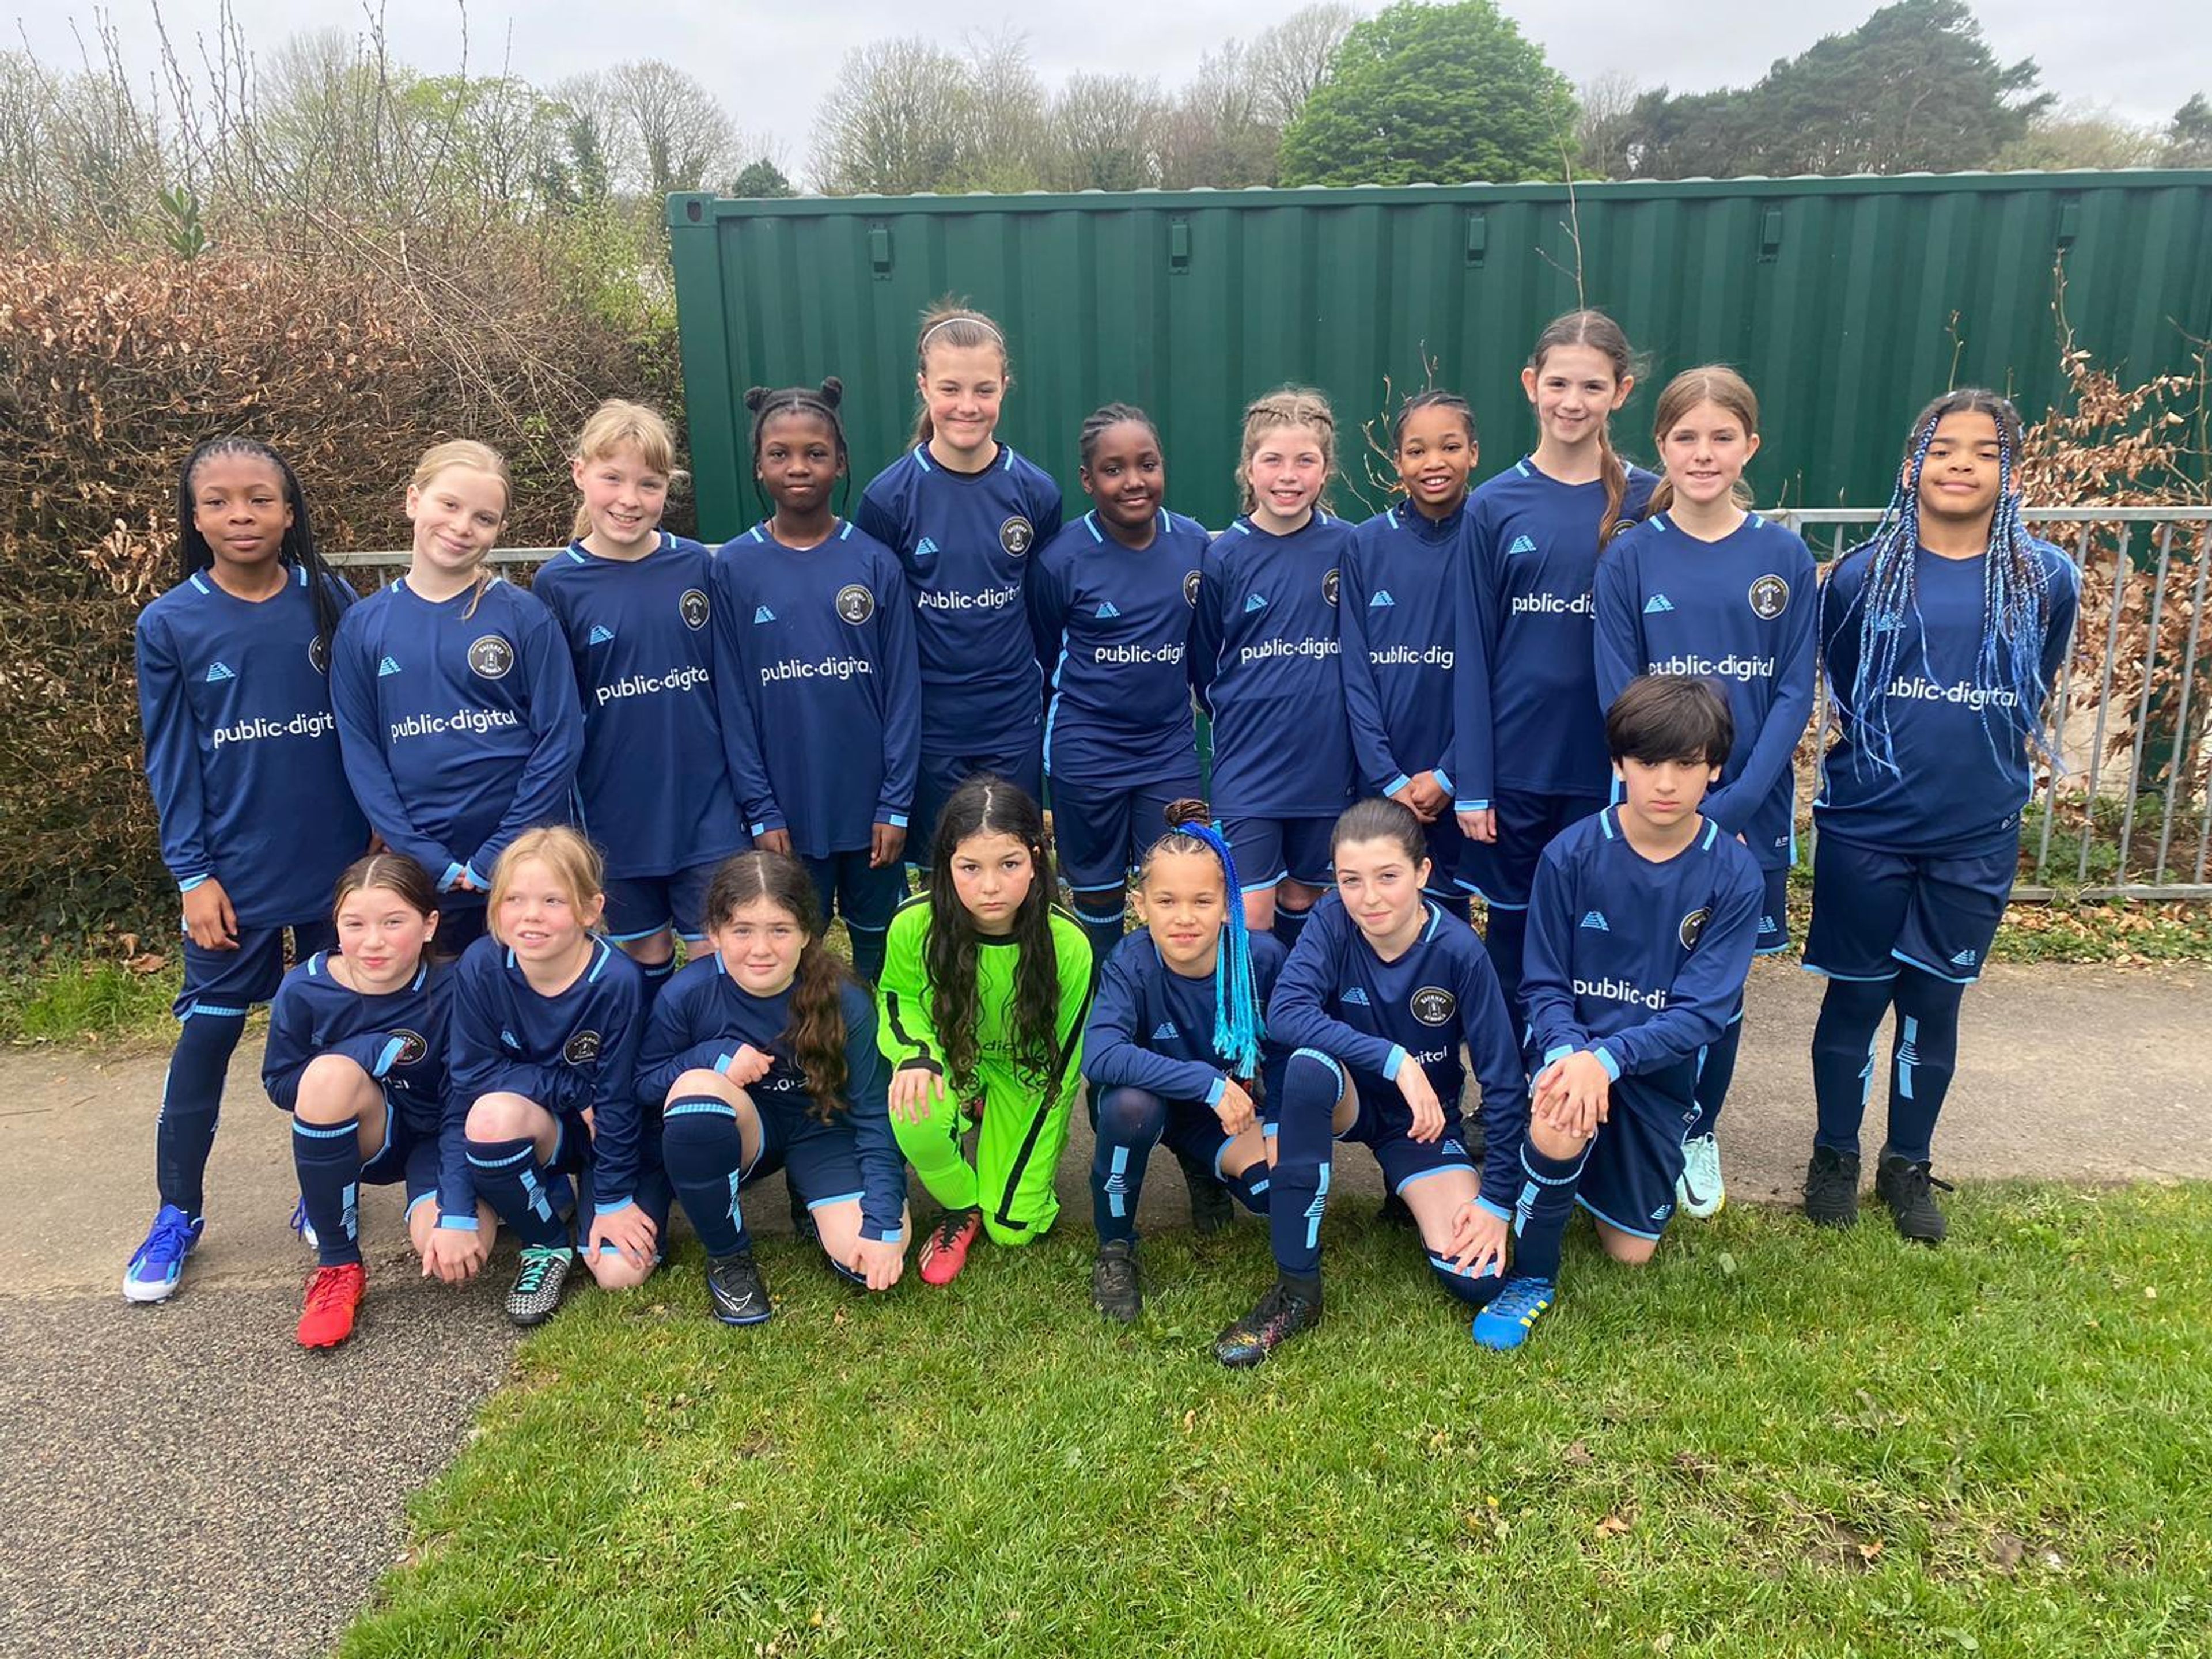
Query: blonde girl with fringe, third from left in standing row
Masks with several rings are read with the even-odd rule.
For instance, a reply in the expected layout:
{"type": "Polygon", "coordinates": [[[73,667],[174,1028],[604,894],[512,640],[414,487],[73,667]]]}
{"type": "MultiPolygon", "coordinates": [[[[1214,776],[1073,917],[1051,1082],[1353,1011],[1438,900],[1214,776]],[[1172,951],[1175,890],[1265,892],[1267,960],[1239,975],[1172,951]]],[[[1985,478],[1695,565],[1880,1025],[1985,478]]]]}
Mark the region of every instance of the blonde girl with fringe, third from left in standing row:
{"type": "Polygon", "coordinates": [[[575,807],[606,852],[606,936],[646,971],[648,998],[675,973],[675,933],[703,938],[714,865],[745,845],[714,706],[712,555],[661,529],[675,467],[661,416],[602,403],[568,460],[575,540],[531,584],[575,664],[575,807]]]}

